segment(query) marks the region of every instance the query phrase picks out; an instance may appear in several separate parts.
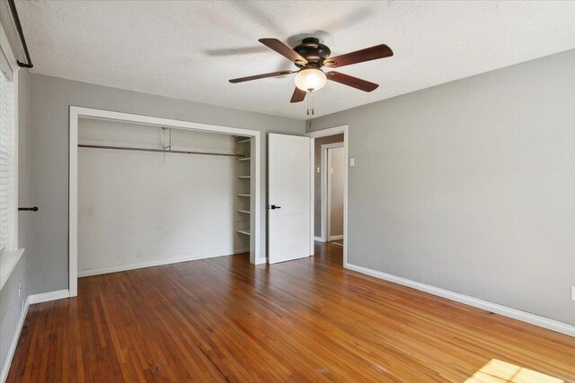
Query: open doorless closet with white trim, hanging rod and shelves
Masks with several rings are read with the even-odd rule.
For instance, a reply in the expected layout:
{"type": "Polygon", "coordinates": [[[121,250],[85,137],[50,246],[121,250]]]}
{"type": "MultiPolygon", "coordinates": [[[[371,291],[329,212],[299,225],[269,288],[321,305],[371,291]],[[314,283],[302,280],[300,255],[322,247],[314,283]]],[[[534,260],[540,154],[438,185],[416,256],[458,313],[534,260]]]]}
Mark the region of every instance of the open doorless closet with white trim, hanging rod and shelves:
{"type": "Polygon", "coordinates": [[[260,132],[70,109],[70,296],[77,278],[260,253],[260,132]]]}

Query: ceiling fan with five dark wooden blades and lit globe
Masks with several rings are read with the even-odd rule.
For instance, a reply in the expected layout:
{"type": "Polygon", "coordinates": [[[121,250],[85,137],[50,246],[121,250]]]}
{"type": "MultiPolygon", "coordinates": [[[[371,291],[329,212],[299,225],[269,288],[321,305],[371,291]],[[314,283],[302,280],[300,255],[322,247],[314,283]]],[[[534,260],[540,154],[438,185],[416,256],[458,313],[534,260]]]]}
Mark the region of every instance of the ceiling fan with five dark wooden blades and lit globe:
{"type": "Polygon", "coordinates": [[[392,57],[394,52],[385,44],[375,47],[365,48],[350,52],[345,55],[330,57],[332,51],[323,45],[319,39],[313,37],[305,38],[302,43],[295,48],[281,42],[279,39],[259,39],[261,44],[278,52],[281,56],[288,58],[299,69],[272,72],[270,74],[256,74],[247,77],[234,78],[230,83],[243,83],[246,81],[259,80],[261,78],[276,77],[286,74],[296,73],[296,89],[289,102],[301,102],[305,99],[305,94],[312,91],[319,91],[323,88],[327,80],[351,86],[360,91],[375,91],[379,86],[366,80],[329,71],[324,73],[323,66],[328,68],[339,68],[344,65],[363,63],[364,61],[376,60],[378,58],[392,57]]]}

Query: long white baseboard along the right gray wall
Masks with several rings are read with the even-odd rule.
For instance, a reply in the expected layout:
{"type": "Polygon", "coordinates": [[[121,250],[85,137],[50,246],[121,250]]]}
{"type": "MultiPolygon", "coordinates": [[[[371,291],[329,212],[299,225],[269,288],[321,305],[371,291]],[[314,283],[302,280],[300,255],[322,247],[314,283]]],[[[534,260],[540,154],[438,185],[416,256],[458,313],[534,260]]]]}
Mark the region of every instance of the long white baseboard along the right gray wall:
{"type": "Polygon", "coordinates": [[[512,309],[510,307],[503,306],[498,303],[493,303],[487,300],[480,300],[477,298],[470,297],[468,295],[461,294],[459,292],[451,292],[449,290],[441,289],[435,286],[431,286],[429,284],[411,281],[410,279],[403,278],[401,276],[382,273],[380,271],[372,270],[367,267],[352,265],[349,263],[344,266],[349,270],[357,271],[362,274],[367,274],[379,279],[383,279],[388,282],[402,284],[403,286],[411,287],[413,289],[419,290],[420,292],[429,292],[430,294],[447,298],[448,300],[455,300],[457,302],[464,303],[466,305],[473,306],[478,309],[485,309],[487,311],[500,314],[504,317],[514,318],[522,322],[529,323],[531,325],[544,327],[549,330],[556,331],[558,333],[575,337],[575,326],[571,326],[567,323],[563,323],[558,320],[541,317],[532,314],[530,312],[522,311],[520,309],[512,309]]]}

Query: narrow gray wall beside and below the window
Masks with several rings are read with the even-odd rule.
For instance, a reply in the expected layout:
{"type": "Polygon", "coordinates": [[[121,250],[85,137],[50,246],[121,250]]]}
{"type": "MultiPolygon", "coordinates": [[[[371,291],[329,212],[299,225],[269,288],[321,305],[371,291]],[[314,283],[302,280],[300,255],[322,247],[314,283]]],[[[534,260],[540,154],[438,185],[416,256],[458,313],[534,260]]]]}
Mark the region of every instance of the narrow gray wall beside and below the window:
{"type": "MultiPolygon", "coordinates": [[[[30,204],[29,105],[29,74],[27,69],[21,69],[18,72],[18,200],[20,206],[30,204]]],[[[18,248],[26,250],[0,291],[0,370],[4,366],[18,321],[22,317],[21,301],[25,302],[28,299],[30,214],[18,214],[18,248]],[[19,283],[22,283],[21,296],[18,296],[19,283]]]]}

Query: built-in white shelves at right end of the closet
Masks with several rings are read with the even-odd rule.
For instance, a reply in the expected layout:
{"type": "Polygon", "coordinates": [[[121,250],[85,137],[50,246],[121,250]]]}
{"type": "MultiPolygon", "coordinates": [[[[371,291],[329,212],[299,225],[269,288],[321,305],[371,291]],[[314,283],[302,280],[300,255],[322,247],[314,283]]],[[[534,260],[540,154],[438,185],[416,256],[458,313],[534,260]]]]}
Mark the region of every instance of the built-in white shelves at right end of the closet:
{"type": "Polygon", "coordinates": [[[235,236],[234,248],[249,251],[252,217],[252,138],[234,137],[234,152],[240,157],[235,165],[235,236]]]}

